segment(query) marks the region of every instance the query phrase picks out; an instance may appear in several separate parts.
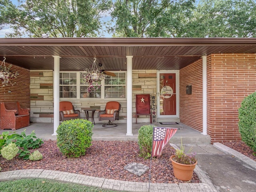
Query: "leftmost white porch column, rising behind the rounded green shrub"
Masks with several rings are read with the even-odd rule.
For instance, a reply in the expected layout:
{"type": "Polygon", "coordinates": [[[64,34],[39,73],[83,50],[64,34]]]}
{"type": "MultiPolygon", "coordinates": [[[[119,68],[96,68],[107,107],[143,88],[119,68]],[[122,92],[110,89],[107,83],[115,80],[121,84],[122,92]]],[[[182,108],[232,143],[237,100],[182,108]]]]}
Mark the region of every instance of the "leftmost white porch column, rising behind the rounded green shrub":
{"type": "Polygon", "coordinates": [[[52,135],[56,135],[56,130],[60,124],[60,56],[54,57],[54,73],[53,73],[53,98],[54,98],[54,132],[52,135]]]}

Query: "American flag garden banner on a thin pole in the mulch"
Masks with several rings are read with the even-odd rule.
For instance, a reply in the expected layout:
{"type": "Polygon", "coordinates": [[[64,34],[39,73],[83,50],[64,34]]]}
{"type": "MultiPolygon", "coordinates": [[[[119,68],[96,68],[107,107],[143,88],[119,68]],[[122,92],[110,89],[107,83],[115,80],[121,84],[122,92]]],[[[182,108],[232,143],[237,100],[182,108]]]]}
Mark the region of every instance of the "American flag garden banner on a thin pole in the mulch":
{"type": "Polygon", "coordinates": [[[166,143],[179,128],[154,127],[151,157],[160,157],[166,143]]]}

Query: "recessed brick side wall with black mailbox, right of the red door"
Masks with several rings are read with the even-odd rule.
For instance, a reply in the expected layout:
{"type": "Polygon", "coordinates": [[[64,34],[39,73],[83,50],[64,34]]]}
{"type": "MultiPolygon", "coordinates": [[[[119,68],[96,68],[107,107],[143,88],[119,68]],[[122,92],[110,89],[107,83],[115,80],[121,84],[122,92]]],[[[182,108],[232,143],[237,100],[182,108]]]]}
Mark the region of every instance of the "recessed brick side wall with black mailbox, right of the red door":
{"type": "Polygon", "coordinates": [[[202,132],[202,59],[180,70],[180,122],[202,132]],[[192,85],[192,94],[186,86],[192,85]]]}

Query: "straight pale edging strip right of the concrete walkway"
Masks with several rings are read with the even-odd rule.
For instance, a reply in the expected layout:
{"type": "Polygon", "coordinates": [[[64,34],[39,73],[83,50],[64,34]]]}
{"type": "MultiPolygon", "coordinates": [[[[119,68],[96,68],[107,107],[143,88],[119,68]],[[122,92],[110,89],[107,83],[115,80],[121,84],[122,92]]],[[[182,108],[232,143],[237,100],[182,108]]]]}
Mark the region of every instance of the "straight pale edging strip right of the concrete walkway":
{"type": "Polygon", "coordinates": [[[250,166],[251,168],[253,168],[254,170],[256,170],[256,161],[252,160],[251,158],[249,158],[249,157],[245,156],[244,154],[242,154],[232,148],[229,148],[228,146],[221,144],[219,142],[216,142],[213,145],[216,148],[218,148],[219,150],[222,150],[225,153],[235,156],[237,159],[244,162],[244,164],[246,164],[246,165],[250,166]]]}

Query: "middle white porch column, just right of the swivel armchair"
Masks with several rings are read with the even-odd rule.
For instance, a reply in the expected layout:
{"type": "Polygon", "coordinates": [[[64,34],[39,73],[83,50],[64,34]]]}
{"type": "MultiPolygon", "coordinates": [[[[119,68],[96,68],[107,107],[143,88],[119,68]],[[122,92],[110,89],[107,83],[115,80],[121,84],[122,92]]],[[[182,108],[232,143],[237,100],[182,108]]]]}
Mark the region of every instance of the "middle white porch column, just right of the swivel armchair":
{"type": "Polygon", "coordinates": [[[126,136],[132,136],[132,58],[133,56],[126,56],[127,58],[127,131],[126,136]]]}

